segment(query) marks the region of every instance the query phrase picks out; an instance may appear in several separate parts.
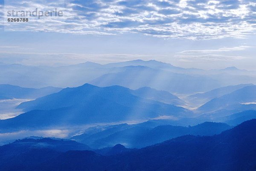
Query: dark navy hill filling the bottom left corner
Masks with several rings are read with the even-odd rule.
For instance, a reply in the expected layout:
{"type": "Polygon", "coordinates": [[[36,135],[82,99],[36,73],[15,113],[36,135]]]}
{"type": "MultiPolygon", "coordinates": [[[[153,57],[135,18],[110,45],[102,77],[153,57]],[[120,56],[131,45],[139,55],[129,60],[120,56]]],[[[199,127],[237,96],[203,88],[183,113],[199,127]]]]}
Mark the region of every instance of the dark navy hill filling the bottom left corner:
{"type": "Polygon", "coordinates": [[[51,138],[16,140],[0,146],[0,170],[27,170],[69,150],[88,150],[89,146],[71,140],[51,138]]]}

